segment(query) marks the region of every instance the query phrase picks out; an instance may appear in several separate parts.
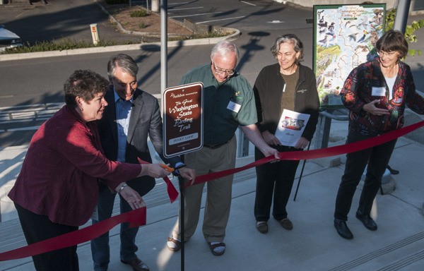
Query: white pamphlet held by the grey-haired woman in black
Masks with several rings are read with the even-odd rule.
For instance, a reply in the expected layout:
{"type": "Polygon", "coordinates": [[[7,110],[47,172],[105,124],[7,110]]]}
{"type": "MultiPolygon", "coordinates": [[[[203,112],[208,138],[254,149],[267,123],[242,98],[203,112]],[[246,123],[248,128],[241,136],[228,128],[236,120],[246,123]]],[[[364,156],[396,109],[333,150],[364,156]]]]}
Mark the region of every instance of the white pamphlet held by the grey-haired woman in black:
{"type": "Polygon", "coordinates": [[[302,114],[284,109],[276,130],[276,138],[281,145],[294,147],[305,130],[310,114],[302,114]]]}

